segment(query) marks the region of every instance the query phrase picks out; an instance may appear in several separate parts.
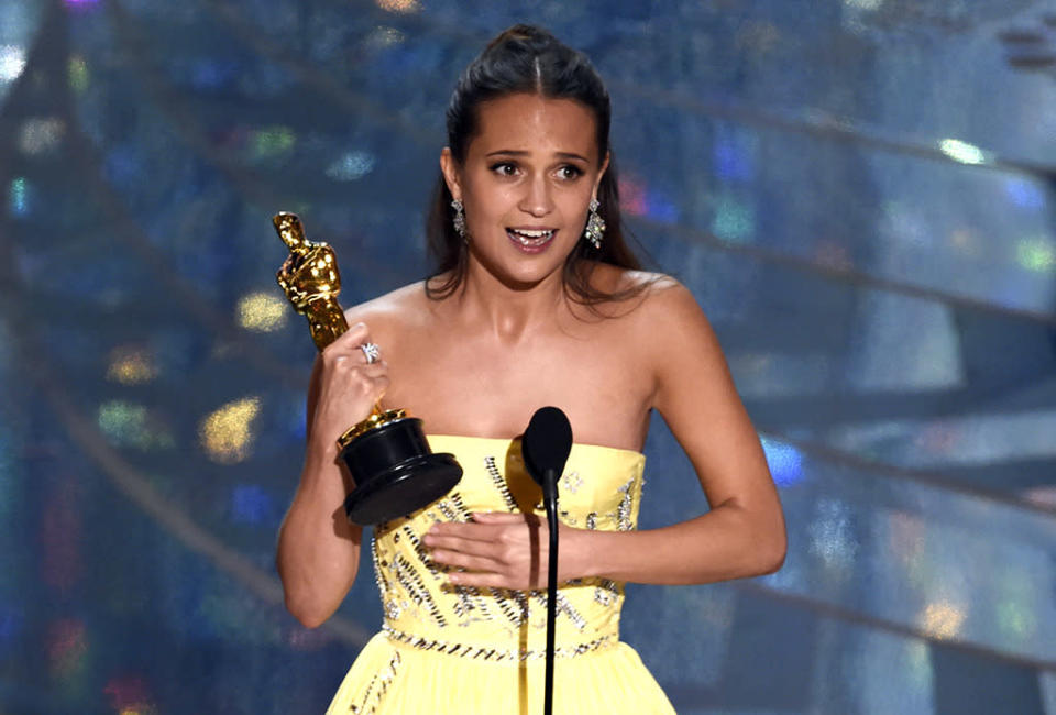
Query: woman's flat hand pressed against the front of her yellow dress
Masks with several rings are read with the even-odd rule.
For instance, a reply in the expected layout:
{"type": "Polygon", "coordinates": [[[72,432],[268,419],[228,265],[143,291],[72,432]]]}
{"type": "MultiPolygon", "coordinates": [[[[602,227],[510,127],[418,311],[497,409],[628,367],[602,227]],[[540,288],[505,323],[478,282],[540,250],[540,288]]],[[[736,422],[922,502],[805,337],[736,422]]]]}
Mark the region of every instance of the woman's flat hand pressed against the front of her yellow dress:
{"type": "MultiPolygon", "coordinates": [[[[568,543],[565,535],[571,531],[561,527],[562,543],[568,543]]],[[[547,585],[550,531],[534,514],[474,514],[469,522],[435,524],[424,541],[437,564],[465,570],[448,574],[452,585],[519,590],[547,585]]],[[[560,571],[559,582],[572,578],[560,571]]]]}

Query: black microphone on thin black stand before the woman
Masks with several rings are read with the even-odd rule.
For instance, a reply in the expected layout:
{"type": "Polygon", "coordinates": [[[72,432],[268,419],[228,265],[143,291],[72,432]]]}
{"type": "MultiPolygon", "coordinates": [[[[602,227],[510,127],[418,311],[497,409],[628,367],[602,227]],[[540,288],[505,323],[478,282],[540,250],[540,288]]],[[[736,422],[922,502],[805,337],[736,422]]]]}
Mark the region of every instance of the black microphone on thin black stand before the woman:
{"type": "Polygon", "coordinates": [[[520,438],[525,468],[542,486],[550,531],[547,568],[547,672],[543,684],[543,714],[553,713],[553,637],[558,617],[558,479],[572,451],[572,426],[557,407],[540,407],[520,438]]]}

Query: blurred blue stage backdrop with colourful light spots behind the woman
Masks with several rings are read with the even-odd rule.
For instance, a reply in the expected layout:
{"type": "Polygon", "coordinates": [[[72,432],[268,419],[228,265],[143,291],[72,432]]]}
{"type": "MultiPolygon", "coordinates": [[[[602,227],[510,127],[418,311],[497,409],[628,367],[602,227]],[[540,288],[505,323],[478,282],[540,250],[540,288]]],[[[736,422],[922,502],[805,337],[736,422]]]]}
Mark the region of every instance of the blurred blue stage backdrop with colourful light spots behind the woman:
{"type": "MultiPolygon", "coordinates": [[[[1056,715],[1056,4],[0,0],[0,713],[321,713],[380,624],[285,613],[315,348],[422,275],[459,72],[528,20],[715,323],[787,565],[630,586],[680,713],[1056,715]]],[[[706,426],[705,426],[706,427],[706,426]]],[[[661,420],[642,526],[706,508],[661,420]]]]}

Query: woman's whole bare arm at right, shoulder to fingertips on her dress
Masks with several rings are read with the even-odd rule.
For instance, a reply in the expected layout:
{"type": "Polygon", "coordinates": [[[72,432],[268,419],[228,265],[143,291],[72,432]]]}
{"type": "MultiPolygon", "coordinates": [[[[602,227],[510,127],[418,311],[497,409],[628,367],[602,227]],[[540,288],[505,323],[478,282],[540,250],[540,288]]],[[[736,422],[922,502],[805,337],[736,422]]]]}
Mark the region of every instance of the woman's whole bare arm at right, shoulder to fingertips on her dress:
{"type": "MultiPolygon", "coordinates": [[[[562,529],[559,578],[688,584],[773,572],[785,552],[781,504],[718,341],[681,285],[672,282],[660,288],[650,302],[639,328],[651,350],[652,407],[685,449],[712,509],[648,531],[562,529]]],[[[542,553],[534,561],[530,544],[547,543],[546,526],[526,528],[519,515],[481,515],[476,521],[440,524],[427,537],[437,561],[469,570],[452,574],[453,580],[466,585],[539,586],[547,558],[542,553]],[[530,528],[541,531],[537,539],[530,537],[530,528]]]]}

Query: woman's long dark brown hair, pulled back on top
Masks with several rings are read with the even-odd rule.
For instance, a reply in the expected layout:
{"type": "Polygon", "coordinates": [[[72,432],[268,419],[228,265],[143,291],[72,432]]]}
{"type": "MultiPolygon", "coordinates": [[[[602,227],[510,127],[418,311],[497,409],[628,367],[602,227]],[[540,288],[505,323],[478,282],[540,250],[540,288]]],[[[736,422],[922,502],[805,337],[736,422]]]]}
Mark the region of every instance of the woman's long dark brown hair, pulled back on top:
{"type": "MultiPolygon", "coordinates": [[[[492,40],[462,73],[448,105],[448,146],[455,163],[465,160],[470,142],[479,131],[481,103],[518,92],[581,102],[594,113],[600,160],[609,152],[608,169],[597,188],[598,213],[606,226],[605,238],[601,249],[585,240],[576,242],[562,272],[565,295],[587,306],[638,295],[645,285],[616,293],[606,293],[591,285],[594,262],[632,270],[640,268],[641,264],[627,246],[619,220],[616,163],[608,146],[612,121],[608,91],[583,53],[532,25],[514,25],[492,40]]],[[[435,300],[447,298],[459,289],[469,264],[469,249],[452,224],[451,200],[451,191],[441,174],[426,218],[427,249],[435,261],[426,280],[426,295],[435,300]],[[447,277],[440,279],[444,274],[447,277]]]]}

